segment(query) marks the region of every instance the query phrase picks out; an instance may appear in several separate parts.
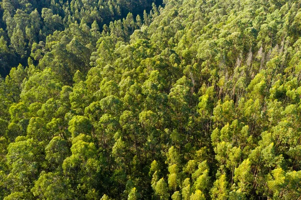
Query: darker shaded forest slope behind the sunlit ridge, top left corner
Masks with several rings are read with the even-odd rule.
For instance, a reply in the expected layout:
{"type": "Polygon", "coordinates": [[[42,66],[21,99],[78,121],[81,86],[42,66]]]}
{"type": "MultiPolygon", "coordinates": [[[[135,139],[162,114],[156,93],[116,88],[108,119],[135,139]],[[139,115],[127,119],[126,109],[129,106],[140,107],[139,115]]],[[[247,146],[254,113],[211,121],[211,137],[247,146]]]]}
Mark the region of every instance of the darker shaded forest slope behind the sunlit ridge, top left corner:
{"type": "MultiPolygon", "coordinates": [[[[154,3],[160,5],[162,1],[3,0],[0,2],[0,74],[6,77],[19,63],[27,66],[28,58],[36,51],[36,44],[45,43],[55,31],[69,29],[74,23],[90,29],[97,25],[98,31],[102,31],[103,25],[122,20],[128,13],[134,18],[142,17],[143,11],[148,13],[154,3]]],[[[91,46],[95,45],[91,43],[91,46]]]]}

